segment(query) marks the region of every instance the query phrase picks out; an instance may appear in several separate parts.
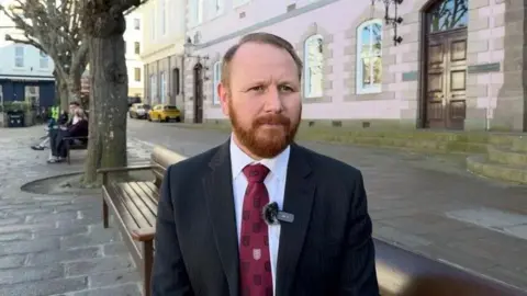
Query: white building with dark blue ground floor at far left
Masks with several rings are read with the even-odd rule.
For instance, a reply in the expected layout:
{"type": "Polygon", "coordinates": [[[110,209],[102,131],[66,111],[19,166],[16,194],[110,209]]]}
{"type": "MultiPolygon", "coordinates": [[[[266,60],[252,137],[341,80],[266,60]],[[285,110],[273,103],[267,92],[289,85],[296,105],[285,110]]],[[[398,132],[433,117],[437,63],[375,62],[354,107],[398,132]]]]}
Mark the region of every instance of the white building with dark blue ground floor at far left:
{"type": "Polygon", "coordinates": [[[0,103],[26,101],[35,106],[55,103],[53,60],[31,45],[5,41],[24,39],[13,22],[0,12],[0,103]]]}

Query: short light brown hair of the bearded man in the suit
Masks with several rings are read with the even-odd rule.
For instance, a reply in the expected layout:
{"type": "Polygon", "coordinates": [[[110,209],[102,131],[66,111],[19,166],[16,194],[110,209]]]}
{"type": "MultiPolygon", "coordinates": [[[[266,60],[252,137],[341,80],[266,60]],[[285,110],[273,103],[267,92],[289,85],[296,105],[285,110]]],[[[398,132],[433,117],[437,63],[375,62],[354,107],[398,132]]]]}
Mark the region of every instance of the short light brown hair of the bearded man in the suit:
{"type": "Polygon", "coordinates": [[[302,69],[303,69],[302,59],[299,57],[299,55],[294,50],[293,45],[291,45],[291,43],[289,43],[287,39],[280,36],[277,36],[274,34],[259,32],[259,33],[250,33],[245,35],[244,37],[242,37],[242,39],[239,39],[237,44],[228,48],[228,50],[225,53],[225,56],[223,56],[222,83],[224,86],[226,87],[229,86],[231,62],[233,61],[233,58],[236,55],[236,52],[238,52],[238,48],[246,43],[267,44],[267,45],[272,45],[280,49],[284,49],[293,58],[294,64],[296,64],[296,67],[299,70],[299,81],[302,79],[302,69]]]}

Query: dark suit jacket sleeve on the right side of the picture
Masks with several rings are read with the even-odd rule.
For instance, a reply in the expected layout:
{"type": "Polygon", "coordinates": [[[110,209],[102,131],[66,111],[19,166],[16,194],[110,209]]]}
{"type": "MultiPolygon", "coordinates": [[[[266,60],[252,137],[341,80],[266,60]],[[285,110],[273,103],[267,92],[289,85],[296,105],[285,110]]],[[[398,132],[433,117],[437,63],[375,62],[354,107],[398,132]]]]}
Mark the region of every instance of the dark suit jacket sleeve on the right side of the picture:
{"type": "Polygon", "coordinates": [[[362,174],[357,171],[350,192],[349,220],[338,295],[379,296],[372,225],[362,174]]]}

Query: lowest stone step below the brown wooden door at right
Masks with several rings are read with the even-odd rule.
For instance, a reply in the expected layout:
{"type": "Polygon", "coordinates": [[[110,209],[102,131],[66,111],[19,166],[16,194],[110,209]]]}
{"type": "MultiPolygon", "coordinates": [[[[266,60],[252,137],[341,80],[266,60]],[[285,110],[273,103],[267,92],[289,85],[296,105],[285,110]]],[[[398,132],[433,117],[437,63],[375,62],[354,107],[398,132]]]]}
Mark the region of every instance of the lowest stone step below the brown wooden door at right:
{"type": "Polygon", "coordinates": [[[470,156],[467,169],[478,175],[516,184],[527,184],[527,166],[503,164],[491,161],[487,156],[470,156]]]}

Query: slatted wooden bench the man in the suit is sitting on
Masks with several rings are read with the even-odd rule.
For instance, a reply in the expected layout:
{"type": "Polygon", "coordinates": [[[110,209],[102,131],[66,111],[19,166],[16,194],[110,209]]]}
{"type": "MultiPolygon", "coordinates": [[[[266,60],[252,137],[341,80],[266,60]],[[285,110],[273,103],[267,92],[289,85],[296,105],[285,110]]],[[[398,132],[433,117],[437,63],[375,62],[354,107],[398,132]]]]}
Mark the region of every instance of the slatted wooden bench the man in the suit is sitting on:
{"type": "MultiPolygon", "coordinates": [[[[103,175],[103,223],[109,214],[123,234],[132,258],[144,278],[144,295],[150,296],[155,224],[159,186],[166,169],[183,157],[156,147],[150,164],[100,169],[103,175]],[[110,182],[111,172],[152,170],[150,182],[110,182]]],[[[375,265],[382,296],[516,296],[525,292],[478,276],[444,262],[374,239],[375,265]]]]}

